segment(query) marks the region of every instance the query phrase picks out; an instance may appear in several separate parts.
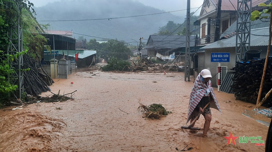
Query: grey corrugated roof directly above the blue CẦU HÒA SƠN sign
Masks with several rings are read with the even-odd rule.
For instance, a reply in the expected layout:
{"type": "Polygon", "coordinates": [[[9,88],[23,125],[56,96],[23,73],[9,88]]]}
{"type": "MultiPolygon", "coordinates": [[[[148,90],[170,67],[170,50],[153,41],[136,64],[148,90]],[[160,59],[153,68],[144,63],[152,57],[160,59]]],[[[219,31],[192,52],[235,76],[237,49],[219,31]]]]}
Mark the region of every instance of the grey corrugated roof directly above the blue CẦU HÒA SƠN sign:
{"type": "MultiPolygon", "coordinates": [[[[250,35],[250,46],[267,46],[269,40],[269,29],[257,29],[251,30],[250,35]]],[[[248,42],[248,40],[247,40],[248,42]]],[[[203,47],[202,49],[207,48],[229,48],[236,46],[236,35],[228,38],[228,39],[221,39],[216,41],[208,46],[203,47]]]]}

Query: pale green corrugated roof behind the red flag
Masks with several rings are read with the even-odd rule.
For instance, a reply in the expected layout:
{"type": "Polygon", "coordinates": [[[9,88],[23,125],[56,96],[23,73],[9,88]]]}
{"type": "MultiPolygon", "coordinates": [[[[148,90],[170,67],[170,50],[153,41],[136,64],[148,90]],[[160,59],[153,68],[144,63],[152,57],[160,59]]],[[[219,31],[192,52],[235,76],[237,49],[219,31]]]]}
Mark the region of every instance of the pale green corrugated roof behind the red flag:
{"type": "MultiPolygon", "coordinates": [[[[67,50],[56,50],[59,55],[63,54],[67,55],[67,50]]],[[[95,50],[69,50],[69,57],[75,57],[75,54],[78,53],[78,58],[86,58],[93,54],[96,54],[95,50]]]]}

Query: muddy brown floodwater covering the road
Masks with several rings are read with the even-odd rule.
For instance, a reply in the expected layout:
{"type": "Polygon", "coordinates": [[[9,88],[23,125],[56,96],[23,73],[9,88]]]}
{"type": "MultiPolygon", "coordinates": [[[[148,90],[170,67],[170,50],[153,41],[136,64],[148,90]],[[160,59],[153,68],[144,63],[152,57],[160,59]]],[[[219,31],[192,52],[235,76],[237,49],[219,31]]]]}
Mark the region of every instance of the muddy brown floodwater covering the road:
{"type": "MultiPolygon", "coordinates": [[[[230,131],[233,136],[261,136],[262,140],[268,131],[268,127],[242,115],[244,109],[252,110],[254,105],[235,100],[233,94],[214,89],[223,114],[212,109],[208,137],[202,137],[203,129],[195,133],[181,129],[186,123],[193,86],[192,81],[184,81],[184,73],[92,72],[54,79],[52,92],[60,90],[66,94],[77,90],[75,100],[31,104],[14,111],[7,110],[14,107],[1,109],[0,151],[169,152],[183,150],[187,144],[190,144],[187,148],[193,147],[191,152],[265,149],[253,143],[241,144],[239,139],[235,140],[236,145],[227,145],[224,136],[229,136],[230,131]],[[144,120],[144,115],[137,112],[139,102],[162,104],[173,113],[161,120],[144,120]]],[[[195,127],[203,125],[201,116],[195,127]]]]}

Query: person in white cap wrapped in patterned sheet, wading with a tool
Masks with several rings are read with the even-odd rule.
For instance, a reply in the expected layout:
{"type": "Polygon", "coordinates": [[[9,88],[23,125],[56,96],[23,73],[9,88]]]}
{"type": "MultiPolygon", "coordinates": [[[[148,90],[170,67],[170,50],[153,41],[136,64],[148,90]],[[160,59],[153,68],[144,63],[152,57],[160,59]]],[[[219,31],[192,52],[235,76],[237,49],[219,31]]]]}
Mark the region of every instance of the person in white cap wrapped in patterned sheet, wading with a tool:
{"type": "MultiPolygon", "coordinates": [[[[189,120],[191,120],[190,122],[192,123],[196,117],[198,117],[198,120],[199,113],[202,113],[205,118],[203,136],[207,136],[207,132],[212,120],[212,112],[210,108],[215,108],[221,113],[213,87],[211,86],[211,77],[211,72],[208,69],[204,69],[199,73],[196,80],[194,81],[194,86],[190,94],[189,101],[187,123],[189,120]],[[209,102],[210,104],[204,109],[205,105],[209,102]]],[[[194,124],[195,122],[191,125],[191,127],[194,127],[194,124]]]]}

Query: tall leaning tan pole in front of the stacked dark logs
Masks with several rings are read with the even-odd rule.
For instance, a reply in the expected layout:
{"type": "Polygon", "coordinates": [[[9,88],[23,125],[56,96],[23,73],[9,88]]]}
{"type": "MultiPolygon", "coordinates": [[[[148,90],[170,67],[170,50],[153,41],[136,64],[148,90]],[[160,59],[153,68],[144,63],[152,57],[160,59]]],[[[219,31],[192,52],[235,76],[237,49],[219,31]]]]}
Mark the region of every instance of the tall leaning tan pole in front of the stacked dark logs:
{"type": "Polygon", "coordinates": [[[265,58],[265,62],[264,62],[264,72],[263,72],[262,81],[261,81],[261,85],[260,85],[260,89],[259,89],[259,94],[258,94],[258,99],[257,99],[257,103],[256,103],[256,108],[259,106],[260,99],[261,99],[261,94],[262,94],[262,90],[263,90],[263,85],[264,85],[264,77],[265,77],[265,73],[266,73],[267,61],[268,61],[268,56],[269,56],[269,51],[270,51],[270,45],[271,45],[271,38],[272,38],[272,31],[271,31],[272,28],[271,27],[272,27],[272,12],[270,12],[269,41],[268,41],[266,58],[265,58]]]}

